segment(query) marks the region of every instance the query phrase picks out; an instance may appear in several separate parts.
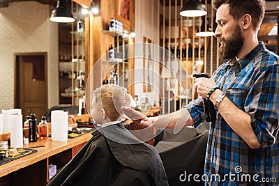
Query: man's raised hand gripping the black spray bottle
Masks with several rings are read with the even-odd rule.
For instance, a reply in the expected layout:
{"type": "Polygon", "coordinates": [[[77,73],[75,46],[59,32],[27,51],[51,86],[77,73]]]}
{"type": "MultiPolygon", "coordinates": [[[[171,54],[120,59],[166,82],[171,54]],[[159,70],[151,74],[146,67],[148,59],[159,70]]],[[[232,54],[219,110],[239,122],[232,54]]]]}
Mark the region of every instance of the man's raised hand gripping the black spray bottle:
{"type": "Polygon", "coordinates": [[[200,77],[195,79],[194,86],[197,88],[197,94],[202,96],[202,98],[206,98],[209,91],[217,85],[213,79],[200,77]]]}

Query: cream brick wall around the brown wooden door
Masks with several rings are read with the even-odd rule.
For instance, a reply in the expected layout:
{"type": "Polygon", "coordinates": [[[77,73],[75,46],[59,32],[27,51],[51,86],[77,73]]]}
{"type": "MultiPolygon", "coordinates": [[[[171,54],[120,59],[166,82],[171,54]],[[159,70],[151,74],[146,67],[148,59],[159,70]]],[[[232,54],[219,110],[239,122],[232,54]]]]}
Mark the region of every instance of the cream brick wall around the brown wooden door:
{"type": "Polygon", "coordinates": [[[58,24],[52,7],[36,1],[0,8],[0,112],[15,106],[15,53],[47,52],[48,107],[59,104],[58,24]]]}

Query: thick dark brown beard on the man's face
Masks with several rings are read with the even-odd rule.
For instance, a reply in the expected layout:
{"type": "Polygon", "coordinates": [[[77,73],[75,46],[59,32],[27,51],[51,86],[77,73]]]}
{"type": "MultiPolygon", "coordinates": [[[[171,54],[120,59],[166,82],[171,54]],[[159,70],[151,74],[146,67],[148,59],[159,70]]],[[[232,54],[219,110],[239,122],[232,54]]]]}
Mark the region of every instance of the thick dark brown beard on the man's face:
{"type": "Polygon", "coordinates": [[[221,59],[232,59],[239,53],[243,46],[244,38],[241,34],[239,25],[234,29],[232,36],[225,39],[219,38],[219,41],[223,41],[223,45],[219,47],[219,54],[221,59]]]}

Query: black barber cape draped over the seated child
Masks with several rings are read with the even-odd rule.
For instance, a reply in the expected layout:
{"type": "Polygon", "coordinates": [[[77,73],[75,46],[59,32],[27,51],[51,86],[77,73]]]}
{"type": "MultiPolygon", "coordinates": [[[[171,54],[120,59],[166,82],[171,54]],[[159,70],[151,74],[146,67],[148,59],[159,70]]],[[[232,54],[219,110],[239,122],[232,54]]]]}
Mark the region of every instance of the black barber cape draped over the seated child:
{"type": "Polygon", "coordinates": [[[135,138],[123,123],[106,124],[92,133],[93,137],[48,186],[168,185],[153,146],[135,138]]]}

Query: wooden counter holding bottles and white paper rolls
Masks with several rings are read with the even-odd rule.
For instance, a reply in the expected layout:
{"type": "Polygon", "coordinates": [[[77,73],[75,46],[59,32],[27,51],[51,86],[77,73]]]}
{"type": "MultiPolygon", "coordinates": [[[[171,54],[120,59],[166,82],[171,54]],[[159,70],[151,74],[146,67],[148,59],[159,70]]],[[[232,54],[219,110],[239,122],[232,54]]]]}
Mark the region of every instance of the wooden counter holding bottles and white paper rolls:
{"type": "Polygon", "coordinates": [[[61,169],[91,137],[89,132],[68,141],[48,138],[24,145],[23,148],[45,147],[33,148],[38,152],[0,165],[0,185],[46,185],[49,164],[61,169]]]}

